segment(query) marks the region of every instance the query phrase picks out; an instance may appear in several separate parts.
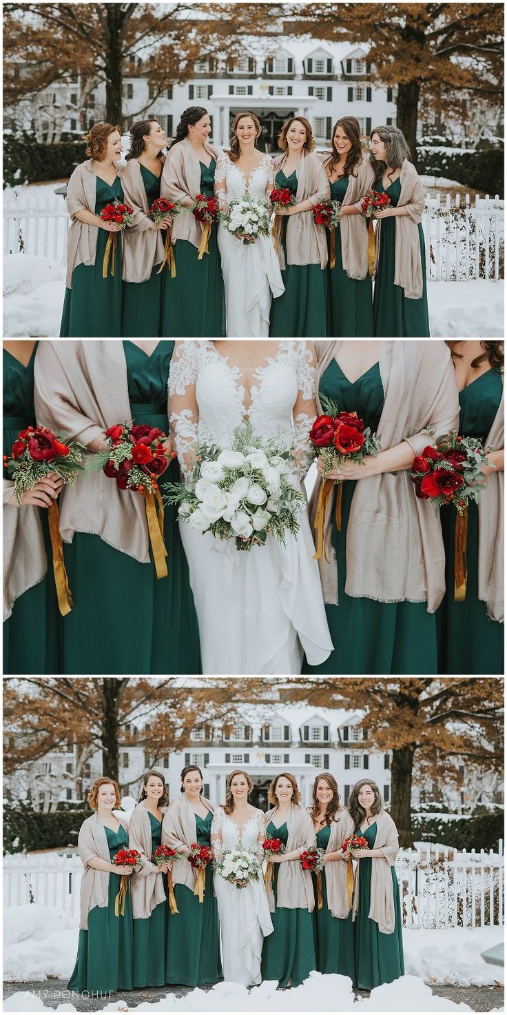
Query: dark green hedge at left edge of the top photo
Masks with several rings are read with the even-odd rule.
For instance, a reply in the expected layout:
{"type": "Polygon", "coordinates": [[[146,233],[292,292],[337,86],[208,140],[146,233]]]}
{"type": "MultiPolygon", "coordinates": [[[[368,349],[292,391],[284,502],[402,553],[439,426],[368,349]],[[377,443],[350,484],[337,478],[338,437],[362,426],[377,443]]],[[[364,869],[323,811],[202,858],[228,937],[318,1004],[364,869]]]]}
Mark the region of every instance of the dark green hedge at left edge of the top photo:
{"type": "Polygon", "coordinates": [[[38,144],[27,135],[14,137],[7,133],[3,142],[4,187],[68,178],[86,158],[84,141],[38,144]]]}

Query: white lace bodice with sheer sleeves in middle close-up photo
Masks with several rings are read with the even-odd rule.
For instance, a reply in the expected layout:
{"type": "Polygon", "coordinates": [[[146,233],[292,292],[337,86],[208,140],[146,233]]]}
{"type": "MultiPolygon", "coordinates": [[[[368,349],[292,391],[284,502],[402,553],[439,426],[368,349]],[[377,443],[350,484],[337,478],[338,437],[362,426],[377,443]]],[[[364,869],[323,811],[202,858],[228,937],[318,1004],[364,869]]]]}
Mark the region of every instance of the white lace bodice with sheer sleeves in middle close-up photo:
{"type": "Polygon", "coordinates": [[[315,418],[315,351],[311,342],[278,343],[263,357],[246,388],[239,366],[229,365],[212,341],[180,341],[169,373],[169,414],[184,475],[203,441],[230,448],[233,432],[248,418],[262,439],[277,437],[293,451],[303,476],[312,460],[308,432],[315,418]]]}

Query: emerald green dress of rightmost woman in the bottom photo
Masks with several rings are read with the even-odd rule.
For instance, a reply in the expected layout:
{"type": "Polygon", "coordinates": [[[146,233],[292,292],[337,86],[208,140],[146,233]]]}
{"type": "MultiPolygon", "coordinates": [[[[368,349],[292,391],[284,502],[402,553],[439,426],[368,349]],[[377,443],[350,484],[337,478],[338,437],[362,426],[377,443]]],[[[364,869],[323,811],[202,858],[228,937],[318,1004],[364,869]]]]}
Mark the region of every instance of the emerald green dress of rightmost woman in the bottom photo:
{"type": "MultiPolygon", "coordinates": [[[[377,830],[376,821],[356,835],[363,835],[368,849],[373,849],[377,830]]],[[[394,868],[391,867],[392,893],[394,896],[394,930],[392,934],[380,934],[378,924],[370,920],[371,865],[378,860],[361,857],[359,861],[359,900],[354,922],[356,942],[356,976],[354,986],[360,991],[372,991],[381,984],[391,984],[405,975],[404,941],[402,936],[402,908],[400,886],[394,868]]]]}

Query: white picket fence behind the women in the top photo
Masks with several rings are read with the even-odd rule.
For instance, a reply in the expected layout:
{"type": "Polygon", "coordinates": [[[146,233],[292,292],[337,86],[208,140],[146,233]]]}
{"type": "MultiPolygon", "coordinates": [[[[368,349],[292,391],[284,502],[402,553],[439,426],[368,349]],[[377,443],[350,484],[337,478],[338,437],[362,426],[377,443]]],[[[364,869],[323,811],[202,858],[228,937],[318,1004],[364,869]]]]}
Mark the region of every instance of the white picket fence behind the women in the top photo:
{"type": "MultiPolygon", "coordinates": [[[[65,264],[69,217],[63,197],[4,191],[3,252],[40,255],[65,264]]],[[[503,277],[504,202],[498,195],[427,197],[423,215],[427,279],[462,281],[503,277]]]]}

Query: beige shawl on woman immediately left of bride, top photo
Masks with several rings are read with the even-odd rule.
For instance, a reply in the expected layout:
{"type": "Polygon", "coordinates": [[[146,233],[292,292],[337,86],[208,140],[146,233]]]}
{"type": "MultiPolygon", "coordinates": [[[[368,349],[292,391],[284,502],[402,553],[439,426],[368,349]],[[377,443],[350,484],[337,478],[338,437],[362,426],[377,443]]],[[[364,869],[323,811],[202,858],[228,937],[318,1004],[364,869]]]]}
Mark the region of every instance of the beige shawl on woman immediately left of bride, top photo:
{"type": "MultiPolygon", "coordinates": [[[[205,151],[218,161],[218,150],[211,144],[204,145],[205,151]]],[[[201,191],[201,163],[189,139],[173,144],[169,150],[160,180],[160,197],[168,201],[184,201],[191,197],[196,200],[201,191]]],[[[203,222],[198,222],[190,208],[182,208],[174,219],[170,236],[174,244],[176,240],[188,240],[194,247],[199,247],[203,236],[203,222]]]]}

